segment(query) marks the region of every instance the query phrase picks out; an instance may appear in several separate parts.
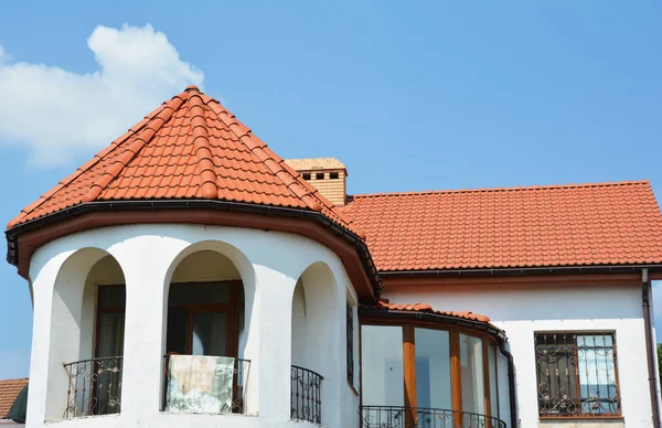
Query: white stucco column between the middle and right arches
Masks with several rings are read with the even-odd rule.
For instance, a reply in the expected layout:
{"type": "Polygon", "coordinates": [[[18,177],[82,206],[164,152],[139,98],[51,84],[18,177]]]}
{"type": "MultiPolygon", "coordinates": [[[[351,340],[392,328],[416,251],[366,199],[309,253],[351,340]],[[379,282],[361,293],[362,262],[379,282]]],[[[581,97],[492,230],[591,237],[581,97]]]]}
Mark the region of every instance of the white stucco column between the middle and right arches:
{"type": "Polygon", "coordinates": [[[263,426],[281,426],[290,418],[291,303],[296,280],[265,266],[255,266],[259,313],[259,416],[263,426]]]}

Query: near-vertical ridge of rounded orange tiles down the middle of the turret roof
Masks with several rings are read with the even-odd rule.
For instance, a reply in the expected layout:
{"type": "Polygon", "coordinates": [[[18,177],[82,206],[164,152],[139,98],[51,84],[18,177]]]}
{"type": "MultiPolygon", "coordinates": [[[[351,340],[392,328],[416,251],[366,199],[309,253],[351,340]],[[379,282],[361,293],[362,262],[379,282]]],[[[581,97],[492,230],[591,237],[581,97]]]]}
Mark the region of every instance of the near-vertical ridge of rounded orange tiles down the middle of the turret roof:
{"type": "Polygon", "coordinates": [[[190,92],[188,113],[191,116],[191,135],[195,150],[195,168],[200,176],[200,191],[202,192],[202,197],[216,200],[218,199],[218,174],[214,165],[210,145],[204,101],[200,90],[186,88],[186,92],[190,92]]]}

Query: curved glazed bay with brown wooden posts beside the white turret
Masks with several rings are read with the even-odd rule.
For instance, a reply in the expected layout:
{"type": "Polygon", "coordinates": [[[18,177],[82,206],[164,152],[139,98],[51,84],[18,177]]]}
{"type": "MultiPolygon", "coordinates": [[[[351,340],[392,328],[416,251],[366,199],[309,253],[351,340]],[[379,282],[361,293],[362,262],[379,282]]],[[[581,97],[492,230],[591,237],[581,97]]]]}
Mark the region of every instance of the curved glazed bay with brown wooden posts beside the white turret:
{"type": "Polygon", "coordinates": [[[487,334],[364,321],[361,362],[363,427],[505,426],[487,334]]]}

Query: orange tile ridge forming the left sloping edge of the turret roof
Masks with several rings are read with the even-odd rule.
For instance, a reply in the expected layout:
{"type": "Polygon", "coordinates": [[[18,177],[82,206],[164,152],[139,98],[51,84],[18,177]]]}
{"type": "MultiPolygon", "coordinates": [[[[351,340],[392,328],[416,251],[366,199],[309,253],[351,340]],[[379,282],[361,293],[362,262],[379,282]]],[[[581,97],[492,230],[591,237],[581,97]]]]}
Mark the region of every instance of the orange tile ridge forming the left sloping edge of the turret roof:
{"type": "MultiPolygon", "coordinates": [[[[181,94],[175,95],[174,97],[172,97],[170,99],[170,101],[172,101],[172,99],[174,99],[175,97],[179,97],[180,95],[181,94]]],[[[84,172],[89,171],[102,159],[104,159],[110,152],[115,151],[122,142],[127,141],[129,138],[131,138],[132,136],[135,136],[138,131],[142,130],[142,128],[153,117],[156,117],[166,107],[168,107],[168,103],[169,101],[161,103],[161,105],[159,107],[154,108],[151,113],[149,113],[148,115],[146,115],[142,118],[142,120],[140,120],[138,124],[136,124],[132,127],[130,127],[124,135],[121,135],[118,138],[116,138],[115,140],[113,140],[110,142],[110,145],[108,145],[104,149],[99,150],[90,160],[88,160],[87,162],[83,163],[81,167],[78,167],[68,176],[62,179],[55,186],[53,186],[46,193],[44,193],[43,195],[41,195],[32,204],[30,204],[30,205],[25,206],[23,210],[21,210],[21,212],[7,224],[7,228],[8,229],[12,228],[17,224],[21,223],[21,221],[23,221],[23,218],[25,218],[31,212],[33,212],[34,210],[36,210],[39,206],[41,206],[42,204],[44,204],[45,202],[47,202],[51,199],[51,196],[53,196],[56,192],[58,192],[60,190],[62,190],[62,189],[66,188],[67,185],[70,185],[74,180],[76,180],[78,176],[81,176],[81,174],[83,174],[84,172]]]]}

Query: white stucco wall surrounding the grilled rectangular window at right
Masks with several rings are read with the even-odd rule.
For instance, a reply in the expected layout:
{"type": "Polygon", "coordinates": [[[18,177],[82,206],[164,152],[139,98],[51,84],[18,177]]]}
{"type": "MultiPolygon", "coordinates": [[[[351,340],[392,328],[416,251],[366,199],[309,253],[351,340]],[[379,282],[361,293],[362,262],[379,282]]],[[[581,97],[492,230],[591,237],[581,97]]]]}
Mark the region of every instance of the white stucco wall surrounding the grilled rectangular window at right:
{"type": "MultiPolygon", "coordinates": [[[[613,331],[624,425],[652,427],[639,283],[387,287],[383,297],[395,303],[426,302],[439,310],[483,313],[494,325],[505,330],[515,363],[522,428],[555,424],[538,420],[534,332],[613,331]]],[[[499,377],[501,419],[510,427],[504,359],[500,361],[499,377]]],[[[574,426],[581,427],[619,426],[619,422],[622,424],[618,420],[573,421],[574,426]]],[[[569,421],[564,424],[568,427],[569,421]]]]}

